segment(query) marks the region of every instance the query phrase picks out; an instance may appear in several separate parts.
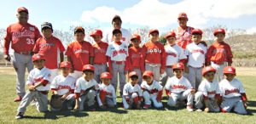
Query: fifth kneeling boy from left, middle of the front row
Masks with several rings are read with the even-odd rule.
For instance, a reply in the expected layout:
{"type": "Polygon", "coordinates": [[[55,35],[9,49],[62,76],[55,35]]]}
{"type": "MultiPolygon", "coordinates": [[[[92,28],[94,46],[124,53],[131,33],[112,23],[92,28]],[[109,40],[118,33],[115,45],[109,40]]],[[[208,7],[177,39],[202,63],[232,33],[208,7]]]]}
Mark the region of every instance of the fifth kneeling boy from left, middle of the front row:
{"type": "Polygon", "coordinates": [[[136,71],[129,73],[129,82],[125,84],[123,89],[123,104],[125,109],[132,109],[134,106],[141,109],[141,101],[143,98],[142,88],[137,84],[138,75],[136,71]]]}

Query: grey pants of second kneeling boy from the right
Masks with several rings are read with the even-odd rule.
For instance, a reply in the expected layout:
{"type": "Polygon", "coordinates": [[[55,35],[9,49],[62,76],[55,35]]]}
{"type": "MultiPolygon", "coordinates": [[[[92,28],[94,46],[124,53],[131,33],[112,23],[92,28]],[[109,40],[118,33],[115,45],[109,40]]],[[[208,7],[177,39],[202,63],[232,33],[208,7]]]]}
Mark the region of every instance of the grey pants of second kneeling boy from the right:
{"type": "MultiPolygon", "coordinates": [[[[205,107],[204,97],[202,92],[195,93],[195,108],[202,109],[205,107]]],[[[217,104],[218,105],[218,104],[217,104]]],[[[219,112],[219,107],[214,107],[214,99],[208,99],[209,110],[212,112],[219,112]]]]}

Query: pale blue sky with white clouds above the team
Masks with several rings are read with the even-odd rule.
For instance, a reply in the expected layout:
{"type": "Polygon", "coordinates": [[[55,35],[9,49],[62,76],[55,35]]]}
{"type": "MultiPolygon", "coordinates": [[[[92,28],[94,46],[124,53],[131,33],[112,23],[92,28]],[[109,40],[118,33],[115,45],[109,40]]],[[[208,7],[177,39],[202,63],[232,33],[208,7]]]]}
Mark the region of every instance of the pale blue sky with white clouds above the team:
{"type": "Polygon", "coordinates": [[[125,28],[149,26],[169,31],[177,27],[177,14],[186,12],[189,25],[195,28],[219,24],[256,32],[255,0],[8,0],[0,6],[0,28],[14,23],[16,9],[24,6],[29,9],[30,23],[39,26],[49,21],[65,31],[70,25],[107,30],[114,14],[122,17],[125,28]]]}

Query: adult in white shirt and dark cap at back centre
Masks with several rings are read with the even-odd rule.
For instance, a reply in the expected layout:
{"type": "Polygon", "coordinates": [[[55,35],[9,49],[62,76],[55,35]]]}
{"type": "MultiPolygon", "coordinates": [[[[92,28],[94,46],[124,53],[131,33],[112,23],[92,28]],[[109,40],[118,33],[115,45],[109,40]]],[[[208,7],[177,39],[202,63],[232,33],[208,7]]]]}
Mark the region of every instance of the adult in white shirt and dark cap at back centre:
{"type": "Polygon", "coordinates": [[[119,29],[122,32],[122,39],[121,42],[125,42],[127,45],[131,44],[131,32],[128,31],[125,28],[122,28],[122,20],[121,17],[119,15],[114,15],[113,19],[112,19],[112,25],[113,25],[113,29],[108,32],[107,36],[105,37],[105,42],[108,42],[108,44],[110,42],[113,42],[113,34],[112,31],[114,29],[119,29]]]}

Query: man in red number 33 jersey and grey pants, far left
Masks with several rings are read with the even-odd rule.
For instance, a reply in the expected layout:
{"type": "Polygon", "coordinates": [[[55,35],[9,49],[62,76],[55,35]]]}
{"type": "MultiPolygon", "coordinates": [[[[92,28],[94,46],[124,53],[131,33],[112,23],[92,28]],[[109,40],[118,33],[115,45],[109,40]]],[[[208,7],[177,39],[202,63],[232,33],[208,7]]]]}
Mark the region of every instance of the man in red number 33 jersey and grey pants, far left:
{"type": "Polygon", "coordinates": [[[35,42],[38,40],[40,32],[35,25],[27,22],[28,10],[20,7],[16,14],[18,22],[9,25],[6,30],[6,36],[3,43],[4,59],[11,61],[16,71],[16,93],[15,102],[18,102],[25,95],[25,73],[26,68],[28,72],[32,70],[32,49],[35,42]],[[14,49],[14,56],[9,55],[9,45],[14,49]]]}

